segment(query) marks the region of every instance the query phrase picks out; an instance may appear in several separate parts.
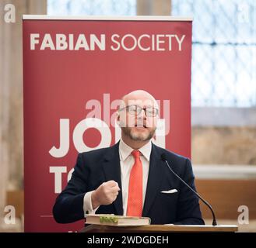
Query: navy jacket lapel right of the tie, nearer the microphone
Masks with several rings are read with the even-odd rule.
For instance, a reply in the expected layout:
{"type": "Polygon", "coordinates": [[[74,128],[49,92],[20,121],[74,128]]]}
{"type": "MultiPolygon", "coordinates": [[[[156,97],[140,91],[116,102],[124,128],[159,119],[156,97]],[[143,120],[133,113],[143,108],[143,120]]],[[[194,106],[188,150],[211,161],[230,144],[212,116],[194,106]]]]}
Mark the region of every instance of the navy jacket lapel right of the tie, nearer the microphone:
{"type": "Polygon", "coordinates": [[[152,151],[149,162],[149,177],[146,188],[146,196],[143,207],[142,216],[146,216],[151,205],[156,198],[156,194],[160,191],[163,181],[163,166],[161,164],[160,154],[157,153],[157,147],[152,144],[152,151]]]}

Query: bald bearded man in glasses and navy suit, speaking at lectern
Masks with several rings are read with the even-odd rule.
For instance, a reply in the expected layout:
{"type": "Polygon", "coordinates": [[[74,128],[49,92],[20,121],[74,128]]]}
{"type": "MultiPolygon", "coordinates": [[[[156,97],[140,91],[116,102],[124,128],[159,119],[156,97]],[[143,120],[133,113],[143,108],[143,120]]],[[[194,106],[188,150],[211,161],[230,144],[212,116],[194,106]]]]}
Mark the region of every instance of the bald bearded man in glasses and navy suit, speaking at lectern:
{"type": "Polygon", "coordinates": [[[58,195],[53,214],[60,223],[86,213],[147,216],[152,224],[204,225],[198,197],[161,160],[195,190],[191,162],[154,145],[159,108],[146,91],[124,95],[117,111],[121,140],[114,146],[80,153],[72,178],[58,195]]]}

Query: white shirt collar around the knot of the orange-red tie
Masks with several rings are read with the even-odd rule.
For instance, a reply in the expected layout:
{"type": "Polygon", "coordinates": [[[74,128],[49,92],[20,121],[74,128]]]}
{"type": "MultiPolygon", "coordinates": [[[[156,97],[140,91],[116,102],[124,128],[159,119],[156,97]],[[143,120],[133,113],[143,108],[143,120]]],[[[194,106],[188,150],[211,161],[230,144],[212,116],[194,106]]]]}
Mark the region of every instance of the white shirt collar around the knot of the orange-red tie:
{"type": "MultiPolygon", "coordinates": [[[[149,161],[150,153],[152,150],[152,142],[149,141],[146,143],[146,145],[139,148],[139,151],[142,153],[144,157],[146,157],[146,160],[149,161]]],[[[124,143],[124,140],[120,140],[119,143],[119,152],[121,154],[121,160],[124,161],[128,158],[128,156],[132,153],[133,149],[132,147],[128,146],[126,143],[124,143]]]]}

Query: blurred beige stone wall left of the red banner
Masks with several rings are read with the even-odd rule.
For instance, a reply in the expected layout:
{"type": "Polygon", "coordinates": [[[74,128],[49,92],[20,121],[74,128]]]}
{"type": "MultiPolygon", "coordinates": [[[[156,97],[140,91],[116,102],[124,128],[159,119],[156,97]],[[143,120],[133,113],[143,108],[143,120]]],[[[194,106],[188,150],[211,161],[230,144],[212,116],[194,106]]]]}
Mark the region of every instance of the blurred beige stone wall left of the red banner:
{"type": "Polygon", "coordinates": [[[6,191],[23,188],[22,15],[46,14],[46,7],[46,0],[0,1],[0,215],[6,191]],[[8,4],[15,22],[5,22],[8,4]]]}

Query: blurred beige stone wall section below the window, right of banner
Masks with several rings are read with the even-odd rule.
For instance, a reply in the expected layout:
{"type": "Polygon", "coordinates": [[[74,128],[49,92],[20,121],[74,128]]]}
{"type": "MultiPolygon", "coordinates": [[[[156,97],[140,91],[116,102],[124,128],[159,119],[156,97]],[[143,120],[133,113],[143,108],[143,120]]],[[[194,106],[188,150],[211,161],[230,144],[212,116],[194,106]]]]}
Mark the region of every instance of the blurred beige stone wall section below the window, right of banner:
{"type": "Polygon", "coordinates": [[[193,164],[256,165],[256,127],[193,126],[193,164]]]}

